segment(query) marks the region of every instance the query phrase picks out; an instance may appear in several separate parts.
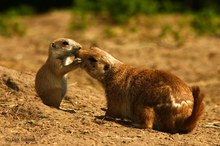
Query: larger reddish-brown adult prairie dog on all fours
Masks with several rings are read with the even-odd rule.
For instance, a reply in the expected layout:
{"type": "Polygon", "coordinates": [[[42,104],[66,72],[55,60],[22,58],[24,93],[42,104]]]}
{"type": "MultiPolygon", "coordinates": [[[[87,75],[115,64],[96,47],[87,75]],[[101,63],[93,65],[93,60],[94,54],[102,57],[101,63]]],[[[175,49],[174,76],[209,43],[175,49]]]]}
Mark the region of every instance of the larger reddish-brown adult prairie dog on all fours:
{"type": "Polygon", "coordinates": [[[106,116],[131,119],[139,128],[188,133],[203,113],[199,87],[190,89],[169,72],[132,67],[97,47],[81,49],[76,57],[104,87],[106,116]]]}

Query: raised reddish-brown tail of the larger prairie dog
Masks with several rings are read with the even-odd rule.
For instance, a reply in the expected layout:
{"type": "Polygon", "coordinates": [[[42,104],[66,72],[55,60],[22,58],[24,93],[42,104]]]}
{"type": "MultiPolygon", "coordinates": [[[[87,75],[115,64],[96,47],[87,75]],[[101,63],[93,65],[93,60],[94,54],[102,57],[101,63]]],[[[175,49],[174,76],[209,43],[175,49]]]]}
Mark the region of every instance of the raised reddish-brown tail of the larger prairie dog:
{"type": "Polygon", "coordinates": [[[188,133],[192,131],[195,128],[196,123],[199,120],[199,117],[202,115],[204,111],[204,94],[200,93],[200,89],[198,86],[193,86],[191,91],[194,98],[192,114],[185,121],[183,121],[183,123],[179,123],[177,125],[178,129],[182,133],[188,133]]]}

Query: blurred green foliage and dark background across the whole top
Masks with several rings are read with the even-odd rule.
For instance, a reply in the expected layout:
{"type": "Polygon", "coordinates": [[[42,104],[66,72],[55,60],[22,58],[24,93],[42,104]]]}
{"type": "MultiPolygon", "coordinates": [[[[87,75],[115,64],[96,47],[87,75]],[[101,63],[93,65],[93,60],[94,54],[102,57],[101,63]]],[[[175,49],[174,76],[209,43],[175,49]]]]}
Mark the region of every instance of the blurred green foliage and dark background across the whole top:
{"type": "MultiPolygon", "coordinates": [[[[219,0],[2,0],[0,5],[0,34],[23,35],[26,28],[19,23],[16,16],[42,13],[51,9],[69,8],[74,12],[71,30],[85,30],[91,22],[88,14],[106,17],[106,22],[125,24],[131,17],[155,15],[162,13],[179,13],[192,15],[189,25],[198,34],[218,35],[220,33],[220,1],[219,0]],[[16,6],[16,7],[15,7],[16,6]],[[110,19],[110,20],[109,20],[110,19]]],[[[101,18],[103,19],[103,18],[101,18]]],[[[131,30],[132,31],[132,30],[131,30]]],[[[133,31],[136,31],[134,28],[133,31]]],[[[107,36],[112,36],[112,30],[106,29],[107,36]]],[[[172,35],[179,39],[177,30],[164,26],[160,37],[172,35]]]]}

